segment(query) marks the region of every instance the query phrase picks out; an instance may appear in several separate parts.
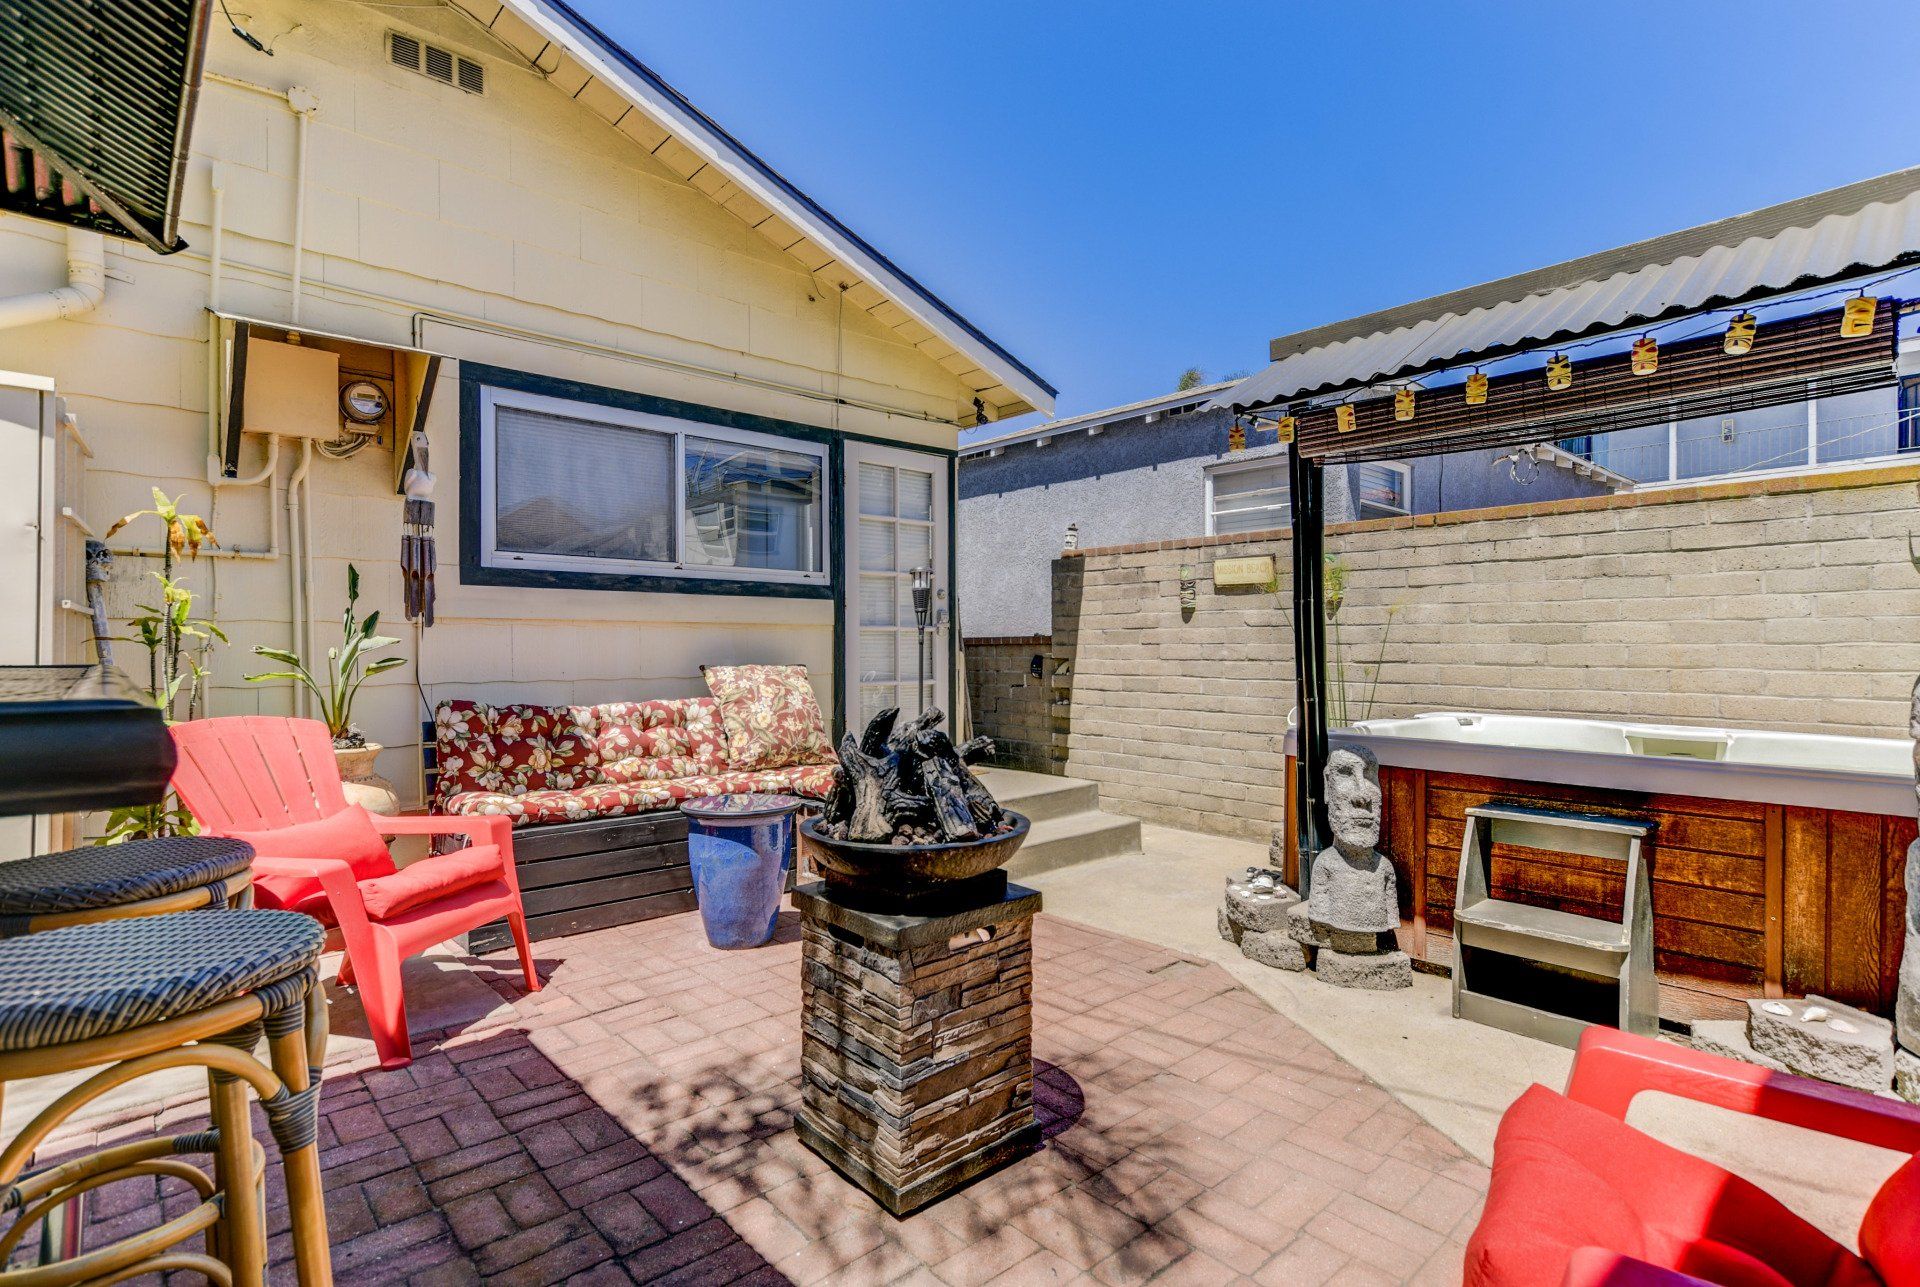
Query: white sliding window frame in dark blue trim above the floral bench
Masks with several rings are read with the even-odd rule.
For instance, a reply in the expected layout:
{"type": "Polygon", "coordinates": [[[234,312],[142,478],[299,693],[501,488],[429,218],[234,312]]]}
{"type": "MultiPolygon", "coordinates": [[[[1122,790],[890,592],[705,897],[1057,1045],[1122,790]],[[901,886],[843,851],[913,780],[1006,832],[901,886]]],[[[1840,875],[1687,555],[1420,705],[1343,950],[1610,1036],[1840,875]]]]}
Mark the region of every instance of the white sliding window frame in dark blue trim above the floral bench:
{"type": "Polygon", "coordinates": [[[747,428],[733,428],[730,425],[714,425],[710,421],[695,421],[685,417],[662,415],[657,411],[637,411],[632,407],[618,407],[605,401],[588,401],[580,398],[559,398],[553,394],[536,394],[532,390],[480,382],[478,384],[478,459],[472,463],[478,474],[480,496],[478,496],[478,565],[492,572],[532,572],[532,574],[553,574],[553,576],[589,576],[589,578],[672,578],[672,580],[691,580],[691,582],[728,582],[728,584],[760,584],[760,586],[833,586],[833,555],[831,555],[831,522],[833,505],[829,492],[833,488],[833,459],[826,442],[814,442],[810,438],[785,438],[780,434],[762,434],[747,428]],[[586,555],[557,555],[557,553],[516,553],[501,551],[495,536],[497,522],[497,499],[499,499],[499,471],[495,469],[495,446],[497,446],[497,426],[495,415],[499,407],[516,407],[522,411],[543,411],[547,415],[563,415],[576,421],[593,421],[601,425],[624,425],[628,428],[643,428],[651,432],[668,434],[672,438],[672,515],[674,515],[674,557],[670,561],[645,561],[645,559],[597,559],[586,555]],[[818,503],[818,530],[814,532],[814,549],[818,551],[820,569],[808,572],[795,572],[787,569],[766,569],[766,567],[712,567],[705,563],[685,561],[685,507],[687,507],[687,438],[705,438],[710,442],[728,442],[743,448],[764,448],[772,451],[787,451],[791,455],[806,455],[820,465],[820,503],[818,503]]]}

